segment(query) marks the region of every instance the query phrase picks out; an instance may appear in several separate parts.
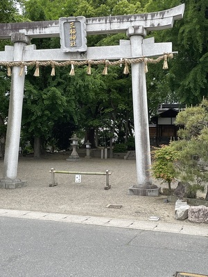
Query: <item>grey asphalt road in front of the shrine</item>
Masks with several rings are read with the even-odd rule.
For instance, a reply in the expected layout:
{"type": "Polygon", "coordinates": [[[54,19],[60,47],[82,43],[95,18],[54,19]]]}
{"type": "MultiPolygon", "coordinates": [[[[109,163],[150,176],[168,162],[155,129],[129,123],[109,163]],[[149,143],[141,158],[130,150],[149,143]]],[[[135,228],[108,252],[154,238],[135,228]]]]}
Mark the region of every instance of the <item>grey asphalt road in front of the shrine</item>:
{"type": "Polygon", "coordinates": [[[1,277],[207,274],[207,237],[0,217],[1,277]]]}

